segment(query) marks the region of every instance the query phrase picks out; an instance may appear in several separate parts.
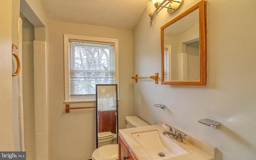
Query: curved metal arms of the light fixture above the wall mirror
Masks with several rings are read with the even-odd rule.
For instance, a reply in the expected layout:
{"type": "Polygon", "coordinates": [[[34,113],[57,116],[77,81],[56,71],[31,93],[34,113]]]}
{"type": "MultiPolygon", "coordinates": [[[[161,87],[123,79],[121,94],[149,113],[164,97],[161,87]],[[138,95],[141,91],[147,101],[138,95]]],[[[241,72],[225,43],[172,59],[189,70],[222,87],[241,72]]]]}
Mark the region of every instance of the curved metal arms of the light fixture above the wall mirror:
{"type": "Polygon", "coordinates": [[[156,15],[158,15],[158,13],[163,9],[163,8],[168,8],[168,10],[171,10],[171,11],[168,11],[168,13],[173,13],[175,12],[176,10],[178,10],[178,8],[180,8],[180,6],[183,4],[183,1],[184,0],[164,0],[163,2],[161,3],[158,3],[156,5],[156,10],[154,10],[153,14],[150,14],[149,15],[149,18],[150,18],[150,27],[151,25],[153,24],[153,21],[154,21],[154,18],[156,17],[156,15]],[[166,7],[168,4],[170,3],[173,3],[173,2],[176,2],[176,3],[180,3],[180,5],[176,8],[172,8],[172,6],[168,6],[166,7]]]}

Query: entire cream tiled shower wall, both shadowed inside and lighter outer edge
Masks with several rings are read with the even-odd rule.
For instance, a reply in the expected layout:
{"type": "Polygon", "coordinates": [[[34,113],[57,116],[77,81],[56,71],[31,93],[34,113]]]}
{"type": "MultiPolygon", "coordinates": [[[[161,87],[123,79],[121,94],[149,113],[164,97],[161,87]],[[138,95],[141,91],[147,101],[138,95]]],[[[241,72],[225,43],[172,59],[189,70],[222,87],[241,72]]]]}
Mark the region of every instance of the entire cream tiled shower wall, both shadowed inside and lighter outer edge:
{"type": "Polygon", "coordinates": [[[24,141],[27,160],[49,160],[48,44],[22,42],[24,141]]]}

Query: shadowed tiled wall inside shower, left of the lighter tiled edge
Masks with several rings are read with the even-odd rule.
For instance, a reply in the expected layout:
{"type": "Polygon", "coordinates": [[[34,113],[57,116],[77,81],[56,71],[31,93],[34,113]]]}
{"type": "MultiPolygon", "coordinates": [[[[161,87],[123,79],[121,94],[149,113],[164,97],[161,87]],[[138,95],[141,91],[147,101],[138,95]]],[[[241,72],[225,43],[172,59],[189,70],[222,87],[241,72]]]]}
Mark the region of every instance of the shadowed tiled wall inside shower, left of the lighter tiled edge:
{"type": "Polygon", "coordinates": [[[22,42],[22,89],[24,108],[24,143],[27,160],[36,159],[34,110],[34,49],[33,42],[22,42]]]}

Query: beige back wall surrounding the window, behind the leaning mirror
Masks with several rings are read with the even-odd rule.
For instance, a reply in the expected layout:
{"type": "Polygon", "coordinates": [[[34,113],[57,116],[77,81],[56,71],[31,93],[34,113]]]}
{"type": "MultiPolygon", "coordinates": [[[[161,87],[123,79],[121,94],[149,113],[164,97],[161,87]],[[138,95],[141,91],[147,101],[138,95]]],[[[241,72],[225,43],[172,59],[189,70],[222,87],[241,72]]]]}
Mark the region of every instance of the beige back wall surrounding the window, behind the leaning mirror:
{"type": "MultiPolygon", "coordinates": [[[[96,148],[95,109],[76,109],[65,113],[63,34],[118,39],[119,43],[119,128],[125,128],[124,116],[132,115],[133,31],[48,21],[49,96],[51,160],[91,159],[96,148]]],[[[70,104],[93,106],[94,103],[70,104]]]]}

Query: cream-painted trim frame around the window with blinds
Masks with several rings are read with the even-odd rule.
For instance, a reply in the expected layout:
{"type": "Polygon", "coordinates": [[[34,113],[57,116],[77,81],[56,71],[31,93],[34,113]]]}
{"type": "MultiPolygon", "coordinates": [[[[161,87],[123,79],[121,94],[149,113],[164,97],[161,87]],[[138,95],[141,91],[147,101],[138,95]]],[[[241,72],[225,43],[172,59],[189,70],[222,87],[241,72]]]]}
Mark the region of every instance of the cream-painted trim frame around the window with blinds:
{"type": "Polygon", "coordinates": [[[70,95],[70,59],[69,59],[69,43],[70,39],[76,39],[81,41],[92,41],[102,43],[113,43],[115,50],[115,84],[118,84],[118,39],[102,38],[102,37],[89,37],[82,35],[69,35],[64,34],[64,103],[84,103],[84,102],[95,102],[96,95],[90,96],[74,96],[70,95]]]}

